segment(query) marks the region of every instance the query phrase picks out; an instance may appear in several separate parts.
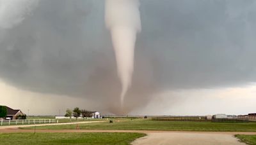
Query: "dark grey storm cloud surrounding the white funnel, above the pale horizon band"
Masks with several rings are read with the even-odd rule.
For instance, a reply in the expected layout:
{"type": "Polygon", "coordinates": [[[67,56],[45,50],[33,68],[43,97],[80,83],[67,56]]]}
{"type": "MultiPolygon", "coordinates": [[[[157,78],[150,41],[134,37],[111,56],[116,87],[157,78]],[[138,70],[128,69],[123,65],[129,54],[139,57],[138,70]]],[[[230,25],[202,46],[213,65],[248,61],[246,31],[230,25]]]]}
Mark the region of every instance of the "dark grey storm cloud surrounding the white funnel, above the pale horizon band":
{"type": "MultiPolygon", "coordinates": [[[[141,0],[140,10],[125,111],[166,89],[256,81],[255,1],[141,0]]],[[[20,25],[0,29],[0,43],[4,81],[97,100],[116,113],[121,87],[104,1],[40,1],[20,25]]]]}

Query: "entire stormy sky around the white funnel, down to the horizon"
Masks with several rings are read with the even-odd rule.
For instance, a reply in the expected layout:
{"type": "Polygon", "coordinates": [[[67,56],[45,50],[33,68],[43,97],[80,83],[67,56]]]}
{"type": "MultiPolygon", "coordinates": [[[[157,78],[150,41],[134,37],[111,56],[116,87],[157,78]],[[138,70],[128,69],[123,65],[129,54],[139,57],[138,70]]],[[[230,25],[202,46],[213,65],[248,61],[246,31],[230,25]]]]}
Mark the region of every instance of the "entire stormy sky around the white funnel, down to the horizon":
{"type": "MultiPolygon", "coordinates": [[[[256,1],[141,0],[129,114],[247,114],[256,1]]],[[[0,0],[0,104],[28,114],[120,113],[102,0],[0,0]],[[18,3],[19,2],[19,3],[18,3]]]]}

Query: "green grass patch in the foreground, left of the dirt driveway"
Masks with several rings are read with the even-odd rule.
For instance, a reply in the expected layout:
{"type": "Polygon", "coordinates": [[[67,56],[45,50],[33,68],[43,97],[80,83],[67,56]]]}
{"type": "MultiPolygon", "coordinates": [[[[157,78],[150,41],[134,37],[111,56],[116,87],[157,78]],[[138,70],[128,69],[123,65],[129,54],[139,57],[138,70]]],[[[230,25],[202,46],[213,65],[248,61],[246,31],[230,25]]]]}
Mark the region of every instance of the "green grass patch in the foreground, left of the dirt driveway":
{"type": "Polygon", "coordinates": [[[10,133],[1,134],[1,144],[130,144],[139,133],[10,133]]]}

